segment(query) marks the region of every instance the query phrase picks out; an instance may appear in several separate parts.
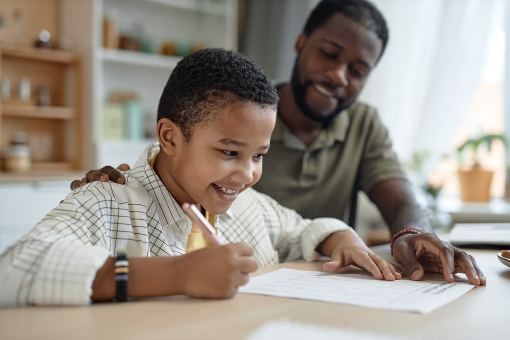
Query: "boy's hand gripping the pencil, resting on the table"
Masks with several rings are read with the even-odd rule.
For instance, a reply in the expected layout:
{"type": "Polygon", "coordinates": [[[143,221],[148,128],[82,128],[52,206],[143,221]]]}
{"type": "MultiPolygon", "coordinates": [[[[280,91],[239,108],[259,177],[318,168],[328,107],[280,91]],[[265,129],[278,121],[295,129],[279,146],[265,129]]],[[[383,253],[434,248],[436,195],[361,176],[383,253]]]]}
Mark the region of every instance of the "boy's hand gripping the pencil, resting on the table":
{"type": "Polygon", "coordinates": [[[253,248],[245,243],[202,248],[181,258],[183,294],[196,298],[230,298],[259,268],[253,248]]]}

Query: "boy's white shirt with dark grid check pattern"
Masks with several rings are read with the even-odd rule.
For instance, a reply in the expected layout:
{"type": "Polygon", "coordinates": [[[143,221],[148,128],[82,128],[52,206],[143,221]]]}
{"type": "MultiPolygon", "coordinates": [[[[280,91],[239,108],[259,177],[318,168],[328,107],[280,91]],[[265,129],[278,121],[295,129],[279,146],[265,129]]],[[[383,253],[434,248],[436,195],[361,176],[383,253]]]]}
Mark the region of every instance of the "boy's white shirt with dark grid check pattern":
{"type": "MultiPolygon", "coordinates": [[[[191,221],[148,164],[149,145],[126,184],[91,182],[71,191],[0,257],[0,306],[90,303],[95,274],[120,249],[131,257],[186,252],[191,221]]],[[[218,217],[223,243],[245,242],[261,266],[317,259],[329,234],[352,230],[343,222],[303,219],[267,195],[248,189],[218,217]]]]}

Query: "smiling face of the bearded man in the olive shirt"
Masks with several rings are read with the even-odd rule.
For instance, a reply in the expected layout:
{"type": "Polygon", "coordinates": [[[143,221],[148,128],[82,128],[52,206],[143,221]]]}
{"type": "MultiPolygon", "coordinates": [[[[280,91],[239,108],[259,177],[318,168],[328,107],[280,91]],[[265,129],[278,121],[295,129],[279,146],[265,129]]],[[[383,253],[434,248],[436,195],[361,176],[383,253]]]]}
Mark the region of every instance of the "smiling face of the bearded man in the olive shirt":
{"type": "Polygon", "coordinates": [[[374,32],[338,13],[309,37],[299,36],[291,83],[302,113],[327,122],[349,107],[381,50],[374,32]]]}

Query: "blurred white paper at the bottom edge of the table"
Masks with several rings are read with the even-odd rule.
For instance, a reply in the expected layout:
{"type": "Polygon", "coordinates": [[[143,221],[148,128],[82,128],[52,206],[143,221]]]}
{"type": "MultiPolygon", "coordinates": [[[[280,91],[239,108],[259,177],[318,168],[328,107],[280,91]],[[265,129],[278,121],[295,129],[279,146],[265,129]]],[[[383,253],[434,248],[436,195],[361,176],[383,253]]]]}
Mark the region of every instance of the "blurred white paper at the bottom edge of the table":
{"type": "Polygon", "coordinates": [[[253,331],[245,340],[292,339],[292,340],[395,340],[394,336],[353,329],[303,324],[295,321],[270,321],[253,331]]]}

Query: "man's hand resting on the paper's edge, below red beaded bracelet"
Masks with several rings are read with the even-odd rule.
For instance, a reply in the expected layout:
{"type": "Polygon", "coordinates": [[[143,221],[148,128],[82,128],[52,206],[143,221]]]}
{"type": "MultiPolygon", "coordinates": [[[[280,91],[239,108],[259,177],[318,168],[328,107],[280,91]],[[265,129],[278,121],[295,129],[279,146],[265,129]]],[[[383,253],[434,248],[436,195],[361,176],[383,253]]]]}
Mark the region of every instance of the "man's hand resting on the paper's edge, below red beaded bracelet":
{"type": "Polygon", "coordinates": [[[421,280],[424,272],[431,272],[442,273],[446,281],[453,282],[453,274],[464,273],[471,284],[487,284],[473,256],[430,232],[400,236],[393,244],[393,257],[413,280],[421,280]]]}

